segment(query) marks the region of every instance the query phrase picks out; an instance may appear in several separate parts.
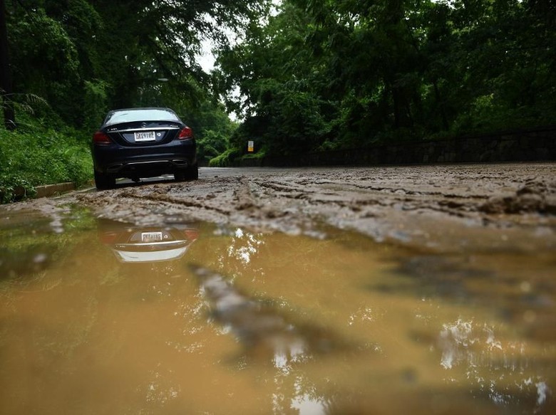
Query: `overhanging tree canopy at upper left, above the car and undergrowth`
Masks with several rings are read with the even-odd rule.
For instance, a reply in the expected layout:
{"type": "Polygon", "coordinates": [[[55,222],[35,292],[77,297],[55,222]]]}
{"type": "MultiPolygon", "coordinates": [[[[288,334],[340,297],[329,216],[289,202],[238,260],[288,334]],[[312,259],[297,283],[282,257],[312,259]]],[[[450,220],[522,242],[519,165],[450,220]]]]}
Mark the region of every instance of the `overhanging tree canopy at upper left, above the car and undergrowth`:
{"type": "Polygon", "coordinates": [[[98,127],[106,110],[121,107],[185,107],[195,113],[211,95],[210,77],[197,64],[202,40],[224,45],[230,30],[259,19],[267,3],[7,2],[14,91],[49,103],[51,110],[39,111],[39,117],[59,117],[87,130],[98,127]]]}

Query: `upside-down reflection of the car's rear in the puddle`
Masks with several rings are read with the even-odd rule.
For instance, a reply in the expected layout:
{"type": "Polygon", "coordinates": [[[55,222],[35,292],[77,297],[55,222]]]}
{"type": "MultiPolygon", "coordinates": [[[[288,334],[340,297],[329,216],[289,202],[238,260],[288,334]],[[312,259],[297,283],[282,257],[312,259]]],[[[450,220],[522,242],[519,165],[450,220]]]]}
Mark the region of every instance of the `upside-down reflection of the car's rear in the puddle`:
{"type": "Polygon", "coordinates": [[[199,236],[199,230],[191,224],[134,226],[103,220],[98,229],[101,242],[125,263],[179,259],[199,236]]]}

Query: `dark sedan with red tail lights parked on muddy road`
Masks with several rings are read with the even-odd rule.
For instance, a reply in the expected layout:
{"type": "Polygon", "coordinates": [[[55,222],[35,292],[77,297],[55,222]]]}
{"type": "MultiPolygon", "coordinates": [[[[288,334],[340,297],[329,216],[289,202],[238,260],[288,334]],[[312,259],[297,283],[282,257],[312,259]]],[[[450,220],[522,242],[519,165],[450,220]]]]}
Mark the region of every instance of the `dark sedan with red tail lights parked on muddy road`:
{"type": "Polygon", "coordinates": [[[128,108],[108,112],[91,143],[97,189],[115,179],[173,173],[178,181],[199,177],[197,147],[190,127],[169,108],[128,108]]]}

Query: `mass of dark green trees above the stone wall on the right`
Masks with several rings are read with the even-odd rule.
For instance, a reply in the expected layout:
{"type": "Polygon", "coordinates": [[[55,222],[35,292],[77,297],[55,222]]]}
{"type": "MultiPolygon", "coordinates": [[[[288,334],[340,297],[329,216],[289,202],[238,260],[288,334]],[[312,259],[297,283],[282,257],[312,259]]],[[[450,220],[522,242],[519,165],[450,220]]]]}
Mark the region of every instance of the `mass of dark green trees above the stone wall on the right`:
{"type": "Polygon", "coordinates": [[[217,85],[244,117],[230,145],[287,155],[552,124],[555,23],[540,1],[284,0],[220,51],[217,85]]]}

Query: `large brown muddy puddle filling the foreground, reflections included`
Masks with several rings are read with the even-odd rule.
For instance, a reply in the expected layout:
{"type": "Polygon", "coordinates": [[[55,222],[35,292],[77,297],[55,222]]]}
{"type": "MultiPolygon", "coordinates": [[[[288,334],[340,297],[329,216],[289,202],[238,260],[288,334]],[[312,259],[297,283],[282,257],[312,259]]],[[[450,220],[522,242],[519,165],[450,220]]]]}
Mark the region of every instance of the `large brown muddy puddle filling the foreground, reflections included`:
{"type": "Polygon", "coordinates": [[[555,413],[555,270],[0,211],[0,413],[555,413]]]}

